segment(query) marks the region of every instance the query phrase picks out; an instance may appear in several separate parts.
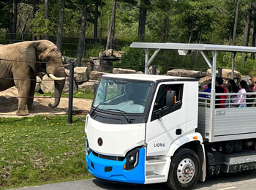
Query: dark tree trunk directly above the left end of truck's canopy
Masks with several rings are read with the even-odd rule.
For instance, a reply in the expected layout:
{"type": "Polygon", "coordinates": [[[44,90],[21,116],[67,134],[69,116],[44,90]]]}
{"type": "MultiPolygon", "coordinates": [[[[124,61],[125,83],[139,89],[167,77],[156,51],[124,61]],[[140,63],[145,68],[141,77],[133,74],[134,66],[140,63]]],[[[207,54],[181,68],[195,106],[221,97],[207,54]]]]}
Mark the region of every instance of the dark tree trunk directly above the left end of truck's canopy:
{"type": "Polygon", "coordinates": [[[140,42],[144,42],[145,40],[145,26],[146,26],[146,15],[147,8],[150,2],[148,0],[140,1],[140,16],[139,16],[139,26],[138,26],[138,37],[140,38],[140,42]]]}

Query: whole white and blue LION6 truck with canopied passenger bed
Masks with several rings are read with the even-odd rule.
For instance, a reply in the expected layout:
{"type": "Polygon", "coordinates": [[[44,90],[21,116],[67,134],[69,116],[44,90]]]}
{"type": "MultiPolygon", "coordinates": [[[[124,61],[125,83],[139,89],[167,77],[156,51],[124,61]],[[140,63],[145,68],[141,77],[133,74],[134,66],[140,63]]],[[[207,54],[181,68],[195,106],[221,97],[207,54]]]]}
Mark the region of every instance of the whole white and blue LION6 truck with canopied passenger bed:
{"type": "MultiPolygon", "coordinates": [[[[134,42],[131,47],[145,50],[146,73],[159,50],[180,55],[197,50],[211,68],[212,84],[219,51],[256,53],[256,47],[228,45],[134,42]]],[[[256,103],[234,107],[230,101],[220,103],[221,95],[214,85],[210,93],[199,92],[195,78],[103,75],[86,117],[87,169],[102,180],[166,182],[170,189],[183,190],[208,175],[255,170],[256,103]]],[[[255,99],[255,93],[246,95],[255,99]]]]}

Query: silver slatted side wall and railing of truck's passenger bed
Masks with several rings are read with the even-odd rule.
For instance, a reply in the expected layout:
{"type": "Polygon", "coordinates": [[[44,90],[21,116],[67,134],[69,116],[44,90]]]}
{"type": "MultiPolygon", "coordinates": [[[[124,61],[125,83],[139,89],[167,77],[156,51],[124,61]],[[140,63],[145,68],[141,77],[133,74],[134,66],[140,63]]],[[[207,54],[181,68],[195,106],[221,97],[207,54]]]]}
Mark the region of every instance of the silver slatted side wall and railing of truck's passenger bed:
{"type": "Polygon", "coordinates": [[[197,132],[200,132],[206,141],[256,138],[255,92],[216,93],[214,98],[211,93],[199,93],[197,132]],[[246,102],[242,103],[246,104],[246,107],[239,107],[236,102],[238,95],[246,95],[246,102]]]}

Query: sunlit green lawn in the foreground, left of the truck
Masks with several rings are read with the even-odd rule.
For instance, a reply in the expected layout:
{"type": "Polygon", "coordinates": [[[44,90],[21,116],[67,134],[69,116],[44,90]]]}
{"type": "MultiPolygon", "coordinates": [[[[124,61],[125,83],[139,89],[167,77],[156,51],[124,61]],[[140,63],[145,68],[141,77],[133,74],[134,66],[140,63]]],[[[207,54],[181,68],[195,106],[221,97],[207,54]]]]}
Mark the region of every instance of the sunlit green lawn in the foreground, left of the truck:
{"type": "Polygon", "coordinates": [[[90,178],[85,117],[0,118],[0,189],[90,178]]]}

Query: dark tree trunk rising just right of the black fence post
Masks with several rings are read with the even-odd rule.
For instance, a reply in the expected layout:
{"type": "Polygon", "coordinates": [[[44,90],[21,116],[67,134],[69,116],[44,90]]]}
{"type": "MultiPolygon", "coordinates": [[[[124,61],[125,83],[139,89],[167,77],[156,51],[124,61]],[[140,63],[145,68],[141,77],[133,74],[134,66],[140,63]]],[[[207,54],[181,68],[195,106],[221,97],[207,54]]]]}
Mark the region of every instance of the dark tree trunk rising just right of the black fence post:
{"type": "Polygon", "coordinates": [[[80,24],[80,34],[79,34],[79,41],[78,41],[78,53],[77,53],[77,66],[82,66],[82,56],[83,56],[83,45],[84,45],[84,39],[86,35],[86,15],[87,15],[87,4],[84,4],[83,6],[83,12],[82,12],[82,19],[80,24]]]}

